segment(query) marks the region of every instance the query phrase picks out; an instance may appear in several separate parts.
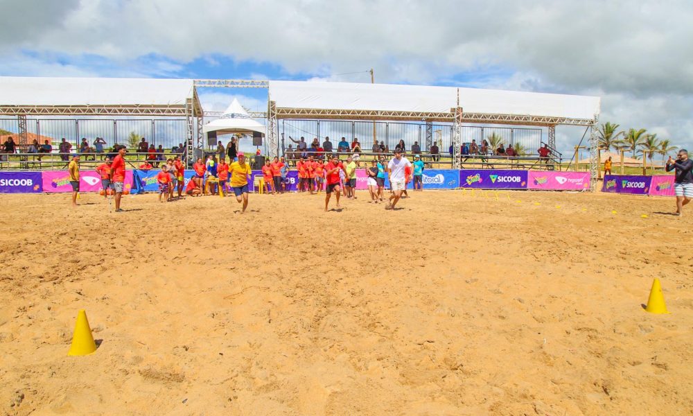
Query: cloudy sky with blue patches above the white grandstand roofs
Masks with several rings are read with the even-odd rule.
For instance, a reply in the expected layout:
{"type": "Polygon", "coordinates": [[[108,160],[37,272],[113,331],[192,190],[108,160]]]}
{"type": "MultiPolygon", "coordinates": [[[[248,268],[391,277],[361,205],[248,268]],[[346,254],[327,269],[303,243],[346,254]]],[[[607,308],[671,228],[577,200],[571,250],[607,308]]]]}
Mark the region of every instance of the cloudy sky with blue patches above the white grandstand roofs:
{"type": "MultiPolygon", "coordinates": [[[[599,95],[601,121],[693,148],[690,0],[0,0],[0,13],[3,76],[369,82],[372,67],[378,83],[599,95]]],[[[263,90],[211,91],[207,110],[231,93],[265,107],[263,90]]],[[[559,147],[582,131],[559,128],[559,147]]]]}

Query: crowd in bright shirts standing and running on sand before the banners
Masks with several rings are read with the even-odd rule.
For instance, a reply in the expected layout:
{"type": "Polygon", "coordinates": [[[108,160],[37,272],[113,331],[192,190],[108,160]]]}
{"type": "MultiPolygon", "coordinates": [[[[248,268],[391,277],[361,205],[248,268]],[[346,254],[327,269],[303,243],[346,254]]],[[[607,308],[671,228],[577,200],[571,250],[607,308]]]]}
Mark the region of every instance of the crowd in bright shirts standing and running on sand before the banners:
{"type": "MultiPolygon", "coordinates": [[[[103,164],[96,167],[96,172],[101,177],[103,195],[110,202],[111,194],[115,198],[115,211],[122,212],[121,198],[123,195],[123,182],[125,180],[125,146],[119,146],[115,157],[106,156],[103,164]]],[[[221,153],[224,154],[224,153],[221,153]]],[[[70,184],[73,189],[72,204],[77,205],[80,191],[79,173],[80,154],[73,155],[68,164],[70,184]]],[[[176,198],[186,196],[214,195],[233,192],[236,200],[242,204],[241,213],[248,206],[249,180],[252,179],[252,170],[243,153],[237,153],[234,159],[229,159],[227,164],[225,156],[209,155],[207,161],[199,158],[192,168],[194,175],[187,184],[184,183],[185,164],[180,155],[172,157],[161,163],[161,171],[157,173],[160,202],[170,202],[176,198]],[[177,195],[176,195],[177,194],[177,195]]],[[[354,157],[340,160],[338,155],[329,155],[326,159],[313,155],[299,157],[297,170],[299,193],[311,195],[325,191],[325,211],[328,210],[332,196],[335,196],[337,209],[341,208],[340,197],[356,200],[356,170],[360,168],[360,162],[354,157]]],[[[140,169],[150,170],[154,168],[149,160],[139,166],[140,169]]],[[[370,166],[365,166],[367,172],[367,187],[371,202],[386,202],[385,209],[394,209],[400,198],[408,196],[407,186],[414,182],[414,190],[423,190],[423,170],[425,166],[419,155],[414,155],[414,162],[403,156],[401,150],[394,151],[394,157],[387,161],[385,157],[372,160],[370,166]],[[390,195],[385,201],[385,177],[389,176],[390,195]]],[[[284,157],[269,159],[262,167],[263,186],[268,193],[284,193],[289,189],[288,164],[284,157]]]]}

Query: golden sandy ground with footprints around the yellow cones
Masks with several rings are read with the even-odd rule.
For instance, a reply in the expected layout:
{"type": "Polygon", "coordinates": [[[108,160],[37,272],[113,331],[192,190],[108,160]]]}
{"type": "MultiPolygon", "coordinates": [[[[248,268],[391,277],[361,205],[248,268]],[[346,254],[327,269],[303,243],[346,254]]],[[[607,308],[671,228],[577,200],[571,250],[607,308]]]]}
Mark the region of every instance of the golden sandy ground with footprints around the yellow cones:
{"type": "Polygon", "coordinates": [[[0,414],[693,414],[693,207],[410,195],[0,195],[0,414]]]}

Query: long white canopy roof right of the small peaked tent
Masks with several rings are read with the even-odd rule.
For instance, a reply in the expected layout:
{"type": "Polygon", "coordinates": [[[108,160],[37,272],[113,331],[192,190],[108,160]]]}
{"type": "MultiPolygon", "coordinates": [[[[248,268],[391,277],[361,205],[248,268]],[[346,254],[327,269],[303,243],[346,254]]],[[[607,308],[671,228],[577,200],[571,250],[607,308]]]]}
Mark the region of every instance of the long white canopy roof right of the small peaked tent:
{"type": "Polygon", "coordinates": [[[595,119],[600,99],[593,96],[543,94],[421,85],[270,81],[270,100],[277,108],[453,112],[595,119]]]}

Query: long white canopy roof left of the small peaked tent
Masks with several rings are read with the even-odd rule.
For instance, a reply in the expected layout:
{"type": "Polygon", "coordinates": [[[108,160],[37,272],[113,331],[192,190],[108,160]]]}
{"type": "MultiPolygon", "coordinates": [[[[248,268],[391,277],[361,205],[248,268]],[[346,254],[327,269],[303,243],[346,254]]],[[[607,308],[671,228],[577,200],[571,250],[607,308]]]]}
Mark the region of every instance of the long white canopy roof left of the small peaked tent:
{"type": "Polygon", "coordinates": [[[185,105],[193,80],[0,77],[0,105],[185,105]]]}

